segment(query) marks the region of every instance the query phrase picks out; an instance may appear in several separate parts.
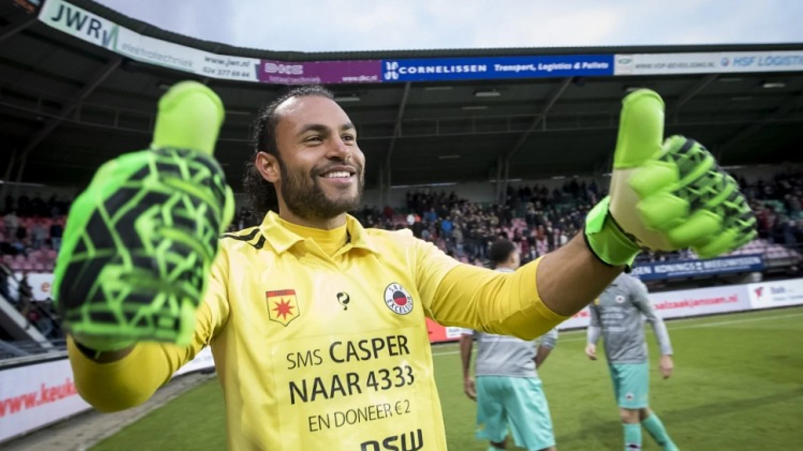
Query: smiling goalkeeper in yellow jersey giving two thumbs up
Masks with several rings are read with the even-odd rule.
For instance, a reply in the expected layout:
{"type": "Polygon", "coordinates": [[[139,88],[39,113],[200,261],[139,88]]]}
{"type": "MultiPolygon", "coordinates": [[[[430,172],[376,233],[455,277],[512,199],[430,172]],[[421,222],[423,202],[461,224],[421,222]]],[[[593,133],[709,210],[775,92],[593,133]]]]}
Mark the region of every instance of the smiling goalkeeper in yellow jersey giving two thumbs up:
{"type": "Polygon", "coordinates": [[[222,104],[178,84],[152,147],[104,165],[67,221],[54,292],[79,393],[104,412],[130,408],[210,346],[230,449],[446,449],[425,317],[533,339],[642,247],[711,257],[752,238],[744,197],[711,154],[682,137],[662,144],[660,97],[623,105],[610,197],[566,246],[500,273],[346,213],[365,156],[320,87],[260,112],[246,187],[264,220],[218,239],[234,210],[212,157],[222,104]]]}

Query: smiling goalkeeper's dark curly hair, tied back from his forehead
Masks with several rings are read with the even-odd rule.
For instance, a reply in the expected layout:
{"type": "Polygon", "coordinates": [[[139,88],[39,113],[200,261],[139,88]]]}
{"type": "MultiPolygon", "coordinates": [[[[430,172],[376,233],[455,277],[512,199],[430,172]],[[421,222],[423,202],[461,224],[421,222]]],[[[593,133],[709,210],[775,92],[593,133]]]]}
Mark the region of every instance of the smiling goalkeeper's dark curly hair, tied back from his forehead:
{"type": "Polygon", "coordinates": [[[276,108],[293,97],[318,96],[334,100],[332,91],[317,85],[291,87],[279,95],[271,103],[259,109],[259,115],[254,121],[254,132],[251,138],[251,146],[254,150],[251,159],[246,164],[246,173],[243,177],[243,189],[248,194],[248,201],[251,210],[256,213],[259,220],[265,217],[267,212],[274,211],[279,213],[279,200],[276,197],[276,189],[273,184],[262,177],[256,169],[254,162],[259,152],[270,153],[279,160],[282,165],[279,149],[276,145],[276,125],[279,124],[279,115],[276,108]]]}

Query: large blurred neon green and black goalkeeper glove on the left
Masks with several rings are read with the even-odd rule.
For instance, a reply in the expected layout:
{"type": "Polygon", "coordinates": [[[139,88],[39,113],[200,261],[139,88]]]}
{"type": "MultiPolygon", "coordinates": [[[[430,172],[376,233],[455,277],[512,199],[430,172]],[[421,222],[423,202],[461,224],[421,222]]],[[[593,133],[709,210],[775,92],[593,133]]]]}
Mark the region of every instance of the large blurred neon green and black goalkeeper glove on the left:
{"type": "Polygon", "coordinates": [[[53,293],[75,339],[96,351],[192,339],[234,196],[212,156],[224,116],[213,91],[173,86],[153,144],[103,165],[67,217],[53,293]]]}

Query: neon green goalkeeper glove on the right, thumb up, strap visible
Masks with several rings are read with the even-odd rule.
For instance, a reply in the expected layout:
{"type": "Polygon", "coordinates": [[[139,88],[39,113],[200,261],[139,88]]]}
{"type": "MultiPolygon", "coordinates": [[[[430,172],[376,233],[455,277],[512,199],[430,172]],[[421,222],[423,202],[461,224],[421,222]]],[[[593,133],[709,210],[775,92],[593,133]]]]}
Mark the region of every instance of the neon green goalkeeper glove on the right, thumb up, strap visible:
{"type": "Polygon", "coordinates": [[[664,104],[654,91],[622,101],[609,197],[585,222],[602,262],[632,266],[642,248],[690,248],[700,258],[736,250],[756,237],[739,185],[701,144],[683,136],[662,143],[664,104]]]}

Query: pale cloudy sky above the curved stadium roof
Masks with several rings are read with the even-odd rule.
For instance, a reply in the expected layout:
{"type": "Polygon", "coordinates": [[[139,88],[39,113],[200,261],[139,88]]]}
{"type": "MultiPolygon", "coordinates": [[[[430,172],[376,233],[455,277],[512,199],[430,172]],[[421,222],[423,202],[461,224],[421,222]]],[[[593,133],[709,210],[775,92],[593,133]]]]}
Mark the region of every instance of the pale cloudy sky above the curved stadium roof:
{"type": "Polygon", "coordinates": [[[803,43],[803,0],[97,0],[275,51],[803,43]]]}

